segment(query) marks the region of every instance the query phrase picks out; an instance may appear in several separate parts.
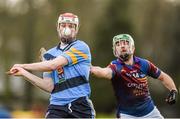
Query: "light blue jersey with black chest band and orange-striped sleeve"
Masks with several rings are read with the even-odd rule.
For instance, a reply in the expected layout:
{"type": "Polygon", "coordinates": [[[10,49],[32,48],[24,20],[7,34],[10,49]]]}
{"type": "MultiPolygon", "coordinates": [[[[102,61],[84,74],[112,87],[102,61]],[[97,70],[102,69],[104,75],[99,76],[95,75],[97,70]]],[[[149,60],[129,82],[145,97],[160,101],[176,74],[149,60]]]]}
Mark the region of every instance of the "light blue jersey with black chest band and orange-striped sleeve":
{"type": "Polygon", "coordinates": [[[89,73],[91,54],[88,45],[76,40],[61,49],[51,48],[44,54],[46,60],[63,56],[68,64],[52,72],[44,72],[43,77],[52,78],[54,89],[51,93],[50,104],[66,105],[79,97],[89,97],[91,93],[89,73]]]}

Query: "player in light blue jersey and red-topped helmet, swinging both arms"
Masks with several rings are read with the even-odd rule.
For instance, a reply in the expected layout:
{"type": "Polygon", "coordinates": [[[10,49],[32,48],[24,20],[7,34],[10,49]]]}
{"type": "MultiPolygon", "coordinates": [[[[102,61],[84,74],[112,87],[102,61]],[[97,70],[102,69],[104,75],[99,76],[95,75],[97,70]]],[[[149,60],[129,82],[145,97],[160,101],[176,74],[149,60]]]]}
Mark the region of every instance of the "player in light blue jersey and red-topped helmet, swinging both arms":
{"type": "Polygon", "coordinates": [[[12,75],[23,75],[51,93],[46,118],[95,118],[89,99],[91,53],[85,42],[76,39],[78,29],[76,15],[60,14],[57,22],[60,43],[43,55],[45,61],[15,64],[10,70],[12,75]],[[43,71],[43,79],[27,70],[43,71]]]}

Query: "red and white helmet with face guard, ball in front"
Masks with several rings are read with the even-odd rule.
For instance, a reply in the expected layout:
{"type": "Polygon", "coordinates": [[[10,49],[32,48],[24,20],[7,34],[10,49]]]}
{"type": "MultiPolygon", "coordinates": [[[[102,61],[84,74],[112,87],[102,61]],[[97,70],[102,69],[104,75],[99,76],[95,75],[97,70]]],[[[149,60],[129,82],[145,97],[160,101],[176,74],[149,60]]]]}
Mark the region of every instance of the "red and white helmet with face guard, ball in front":
{"type": "Polygon", "coordinates": [[[79,29],[79,19],[76,15],[72,13],[64,13],[60,14],[58,21],[57,21],[57,31],[58,35],[60,37],[61,42],[68,44],[75,40],[76,35],[78,33],[79,29]],[[75,29],[72,29],[71,27],[64,26],[63,28],[60,28],[62,24],[71,24],[75,25],[75,29]]]}

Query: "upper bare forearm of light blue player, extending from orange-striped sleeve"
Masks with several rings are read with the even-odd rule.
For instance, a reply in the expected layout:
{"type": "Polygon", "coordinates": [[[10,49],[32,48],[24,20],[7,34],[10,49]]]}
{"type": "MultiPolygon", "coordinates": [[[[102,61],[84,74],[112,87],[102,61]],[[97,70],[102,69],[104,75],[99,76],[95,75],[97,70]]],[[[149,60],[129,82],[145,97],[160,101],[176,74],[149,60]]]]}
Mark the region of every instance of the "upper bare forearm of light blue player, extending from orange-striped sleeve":
{"type": "Polygon", "coordinates": [[[59,56],[49,61],[36,62],[30,64],[15,64],[11,68],[10,73],[13,73],[13,70],[16,67],[21,67],[27,70],[34,70],[34,71],[51,71],[57,69],[58,67],[62,67],[66,64],[68,64],[68,60],[63,56],[59,56]]]}

